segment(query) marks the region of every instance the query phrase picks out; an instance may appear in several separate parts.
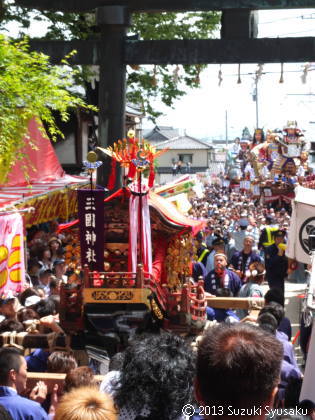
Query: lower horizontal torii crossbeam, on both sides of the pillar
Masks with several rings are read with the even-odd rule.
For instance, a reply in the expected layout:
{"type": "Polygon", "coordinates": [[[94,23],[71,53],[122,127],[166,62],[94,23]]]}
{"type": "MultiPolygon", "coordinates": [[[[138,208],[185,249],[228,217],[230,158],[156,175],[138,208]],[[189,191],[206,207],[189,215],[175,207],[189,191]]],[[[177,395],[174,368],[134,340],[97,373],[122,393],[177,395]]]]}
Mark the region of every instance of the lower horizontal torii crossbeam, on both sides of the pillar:
{"type": "MultiPolygon", "coordinates": [[[[31,41],[54,64],[73,49],[73,64],[100,64],[100,42],[31,41]]],[[[315,37],[125,41],[125,64],[304,63],[315,61],[315,37]]]]}

